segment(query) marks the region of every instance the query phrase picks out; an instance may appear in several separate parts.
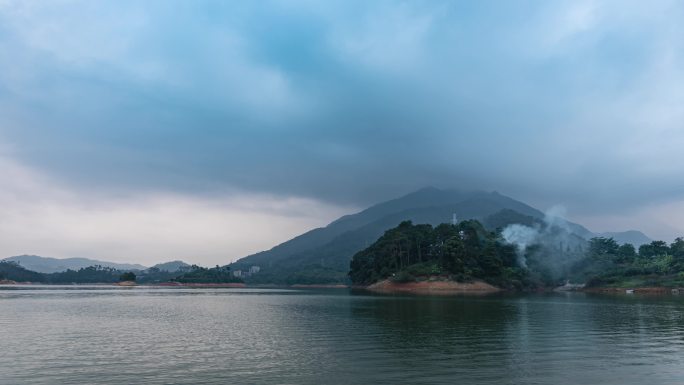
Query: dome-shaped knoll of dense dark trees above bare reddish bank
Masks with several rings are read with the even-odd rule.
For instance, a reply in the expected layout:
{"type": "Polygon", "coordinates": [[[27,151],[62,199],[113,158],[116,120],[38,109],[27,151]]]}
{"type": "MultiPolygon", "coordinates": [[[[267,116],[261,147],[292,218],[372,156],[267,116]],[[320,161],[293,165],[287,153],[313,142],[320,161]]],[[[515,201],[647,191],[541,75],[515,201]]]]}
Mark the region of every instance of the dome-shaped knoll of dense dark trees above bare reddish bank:
{"type": "Polygon", "coordinates": [[[349,277],[358,285],[387,278],[413,281],[427,276],[457,281],[481,279],[510,288],[532,285],[517,260],[514,246],[476,220],[434,228],[406,221],[354,255],[349,277]]]}

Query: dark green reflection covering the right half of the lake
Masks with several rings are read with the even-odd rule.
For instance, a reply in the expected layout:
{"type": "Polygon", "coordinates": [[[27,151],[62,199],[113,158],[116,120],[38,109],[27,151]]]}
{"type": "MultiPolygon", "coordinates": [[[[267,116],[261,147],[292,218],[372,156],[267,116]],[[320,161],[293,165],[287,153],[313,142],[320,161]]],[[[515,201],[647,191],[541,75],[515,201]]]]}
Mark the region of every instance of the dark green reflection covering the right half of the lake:
{"type": "Polygon", "coordinates": [[[375,342],[410,356],[431,382],[592,383],[620,368],[620,383],[637,384],[684,379],[683,309],[680,298],[553,293],[385,297],[352,314],[382,328],[375,342]]]}

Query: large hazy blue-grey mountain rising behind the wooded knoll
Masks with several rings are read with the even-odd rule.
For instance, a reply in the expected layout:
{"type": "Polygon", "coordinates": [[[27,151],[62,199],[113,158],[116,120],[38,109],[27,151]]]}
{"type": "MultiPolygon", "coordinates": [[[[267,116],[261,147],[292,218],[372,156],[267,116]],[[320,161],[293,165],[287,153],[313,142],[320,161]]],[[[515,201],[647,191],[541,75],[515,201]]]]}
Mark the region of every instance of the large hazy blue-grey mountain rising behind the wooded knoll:
{"type": "MultiPolygon", "coordinates": [[[[254,283],[326,283],[346,279],[352,256],[375,242],[384,232],[405,220],[437,226],[457,220],[477,219],[489,230],[521,224],[538,230],[541,241],[562,239],[559,250],[581,247],[595,234],[584,226],[544,212],[498,192],[424,188],[403,197],[345,215],[326,227],[313,229],[289,241],[244,257],[232,266],[262,267],[254,283]]],[[[610,233],[618,242],[650,242],[641,232],[610,233]]]]}

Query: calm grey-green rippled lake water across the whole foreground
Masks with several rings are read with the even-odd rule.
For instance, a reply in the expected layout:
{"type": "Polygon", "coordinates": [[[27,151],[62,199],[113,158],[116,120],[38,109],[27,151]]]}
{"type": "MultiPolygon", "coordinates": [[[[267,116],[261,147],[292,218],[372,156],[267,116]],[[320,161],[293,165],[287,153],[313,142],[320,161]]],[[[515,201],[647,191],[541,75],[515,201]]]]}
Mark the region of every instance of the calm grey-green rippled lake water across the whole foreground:
{"type": "Polygon", "coordinates": [[[684,296],[0,288],[1,384],[684,384],[684,296]]]}

